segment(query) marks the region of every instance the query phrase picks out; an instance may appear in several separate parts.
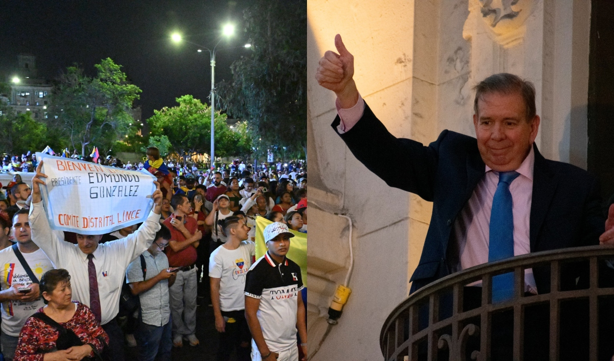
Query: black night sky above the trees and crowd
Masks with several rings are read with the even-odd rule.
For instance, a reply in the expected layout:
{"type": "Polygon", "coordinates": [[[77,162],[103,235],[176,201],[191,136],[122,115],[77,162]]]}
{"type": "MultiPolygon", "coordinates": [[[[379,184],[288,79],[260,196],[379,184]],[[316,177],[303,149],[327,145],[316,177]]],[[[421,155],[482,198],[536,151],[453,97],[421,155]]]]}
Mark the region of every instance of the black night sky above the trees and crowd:
{"type": "MultiPolygon", "coordinates": [[[[142,118],[153,109],[175,106],[191,94],[209,103],[209,52],[170,41],[173,31],[209,47],[223,24],[232,21],[235,36],[217,47],[216,83],[230,80],[230,64],[247,55],[243,45],[243,9],[249,1],[3,1],[0,5],[0,75],[10,77],[19,53],[36,56],[39,77],[54,79],[74,63],[86,74],[110,57],[141,88],[142,118]]],[[[6,81],[6,79],[2,79],[6,81]]]]}

